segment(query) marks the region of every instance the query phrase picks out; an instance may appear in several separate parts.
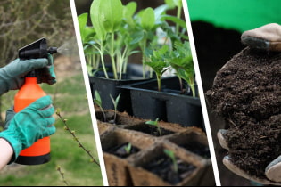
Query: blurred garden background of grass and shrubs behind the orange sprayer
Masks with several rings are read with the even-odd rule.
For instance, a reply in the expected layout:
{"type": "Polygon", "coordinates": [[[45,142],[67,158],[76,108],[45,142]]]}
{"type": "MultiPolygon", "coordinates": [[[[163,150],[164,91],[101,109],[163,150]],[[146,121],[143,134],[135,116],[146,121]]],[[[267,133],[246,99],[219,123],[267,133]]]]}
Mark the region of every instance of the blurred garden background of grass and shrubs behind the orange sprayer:
{"type": "MultiPolygon", "coordinates": [[[[69,0],[3,0],[0,16],[0,67],[16,59],[22,46],[41,37],[47,39],[49,46],[77,47],[69,0]]],[[[54,54],[57,83],[41,86],[52,96],[54,107],[61,109],[62,118],[67,119],[79,142],[98,159],[79,53],[77,49],[71,49],[71,52],[68,55],[54,54]]],[[[17,91],[10,91],[0,97],[2,126],[5,111],[12,106],[15,93],[17,91]]],[[[100,167],[90,162],[87,152],[79,148],[78,142],[64,130],[62,120],[57,115],[54,117],[56,133],[51,136],[51,161],[39,166],[12,164],[4,167],[0,171],[1,186],[66,185],[57,167],[61,167],[69,185],[103,185],[100,167]]]]}

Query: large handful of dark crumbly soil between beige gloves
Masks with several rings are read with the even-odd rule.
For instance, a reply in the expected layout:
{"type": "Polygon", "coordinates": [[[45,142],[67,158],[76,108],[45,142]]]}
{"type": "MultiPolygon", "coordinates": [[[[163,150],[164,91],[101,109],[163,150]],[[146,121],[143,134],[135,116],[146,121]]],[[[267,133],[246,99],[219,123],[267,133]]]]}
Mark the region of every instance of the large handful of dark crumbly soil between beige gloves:
{"type": "Polygon", "coordinates": [[[281,155],[281,53],[245,48],[217,72],[206,93],[226,120],[228,154],[249,175],[281,155]]]}

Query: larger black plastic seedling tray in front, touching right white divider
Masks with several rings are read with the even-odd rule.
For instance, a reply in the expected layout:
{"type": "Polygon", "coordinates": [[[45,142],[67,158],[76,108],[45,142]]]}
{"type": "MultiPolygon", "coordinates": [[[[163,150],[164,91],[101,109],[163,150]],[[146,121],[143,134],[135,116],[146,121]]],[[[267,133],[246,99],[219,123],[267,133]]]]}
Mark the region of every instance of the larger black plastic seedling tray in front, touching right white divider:
{"type": "Polygon", "coordinates": [[[161,92],[155,79],[122,88],[130,91],[133,115],[155,120],[159,118],[181,126],[203,126],[201,102],[198,97],[180,94],[178,77],[161,79],[161,92]]]}

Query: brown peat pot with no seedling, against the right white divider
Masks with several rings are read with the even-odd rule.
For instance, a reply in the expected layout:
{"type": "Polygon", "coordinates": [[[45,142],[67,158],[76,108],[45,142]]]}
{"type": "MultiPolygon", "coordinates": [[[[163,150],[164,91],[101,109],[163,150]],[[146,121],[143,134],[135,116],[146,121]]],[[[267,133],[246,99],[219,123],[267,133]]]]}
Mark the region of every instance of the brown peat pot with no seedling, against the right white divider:
{"type": "Polygon", "coordinates": [[[207,136],[202,129],[196,127],[189,127],[185,132],[172,134],[163,138],[172,142],[180,149],[188,151],[189,154],[194,154],[204,160],[204,173],[202,175],[201,186],[216,185],[213,169],[211,165],[211,154],[207,136]]]}

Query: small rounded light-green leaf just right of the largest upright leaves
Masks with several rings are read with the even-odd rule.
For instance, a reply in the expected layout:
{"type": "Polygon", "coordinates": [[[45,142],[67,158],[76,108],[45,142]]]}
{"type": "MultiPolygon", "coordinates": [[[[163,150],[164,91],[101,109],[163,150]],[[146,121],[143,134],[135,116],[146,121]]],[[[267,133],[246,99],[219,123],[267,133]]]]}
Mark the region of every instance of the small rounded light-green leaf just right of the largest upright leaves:
{"type": "Polygon", "coordinates": [[[140,13],[141,26],[145,30],[152,30],[155,26],[155,14],[153,8],[148,7],[140,13]]]}

